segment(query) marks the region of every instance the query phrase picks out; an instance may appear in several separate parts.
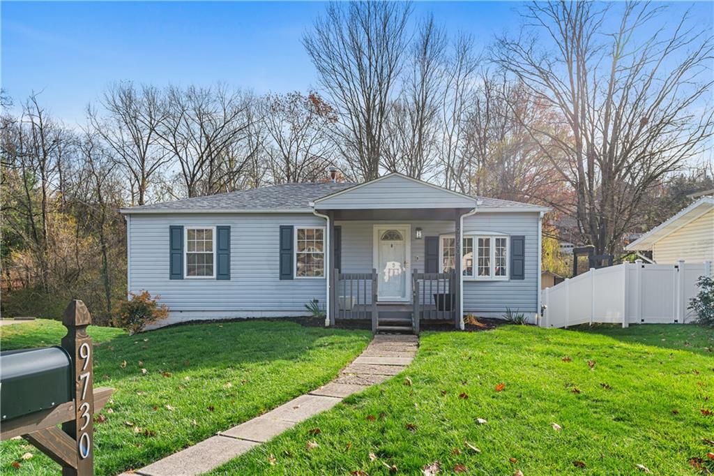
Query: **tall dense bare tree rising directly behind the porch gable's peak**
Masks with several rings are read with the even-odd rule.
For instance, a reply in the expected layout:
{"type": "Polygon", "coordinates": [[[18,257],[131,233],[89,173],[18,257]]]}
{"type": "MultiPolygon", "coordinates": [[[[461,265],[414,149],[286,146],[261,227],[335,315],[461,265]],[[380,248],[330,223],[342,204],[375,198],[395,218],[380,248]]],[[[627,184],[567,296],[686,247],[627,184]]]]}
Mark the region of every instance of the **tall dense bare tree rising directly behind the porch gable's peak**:
{"type": "Polygon", "coordinates": [[[379,176],[410,14],[411,7],[401,2],[331,4],[303,37],[320,84],[340,114],[341,153],[358,178],[379,176]]]}

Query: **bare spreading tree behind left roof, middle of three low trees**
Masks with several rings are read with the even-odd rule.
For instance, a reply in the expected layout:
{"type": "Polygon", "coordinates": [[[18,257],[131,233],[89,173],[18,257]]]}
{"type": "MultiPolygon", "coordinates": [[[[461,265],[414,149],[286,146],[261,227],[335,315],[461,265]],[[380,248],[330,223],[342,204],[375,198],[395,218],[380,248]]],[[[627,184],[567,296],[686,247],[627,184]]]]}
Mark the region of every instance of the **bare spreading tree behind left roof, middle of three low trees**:
{"type": "Polygon", "coordinates": [[[188,197],[226,191],[243,172],[245,157],[234,147],[246,136],[248,99],[226,86],[169,88],[167,112],[157,129],[181,169],[188,197]]]}

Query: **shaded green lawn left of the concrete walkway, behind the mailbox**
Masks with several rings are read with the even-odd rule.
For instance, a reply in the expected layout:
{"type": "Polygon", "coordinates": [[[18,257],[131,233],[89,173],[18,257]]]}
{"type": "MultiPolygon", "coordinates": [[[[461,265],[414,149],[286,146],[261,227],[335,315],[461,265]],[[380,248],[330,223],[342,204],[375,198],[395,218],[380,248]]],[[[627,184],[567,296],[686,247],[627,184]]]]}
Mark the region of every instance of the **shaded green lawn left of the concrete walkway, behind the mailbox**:
{"type": "MultiPolygon", "coordinates": [[[[65,329],[40,319],[4,326],[1,333],[2,348],[16,349],[59,344],[65,329]]],[[[370,339],[368,332],[266,321],[187,325],[131,337],[90,327],[89,334],[98,344],[94,386],[116,389],[101,412],[106,421],[95,423],[98,475],[138,469],[323,385],[370,339]]],[[[4,475],[59,472],[24,440],[3,442],[0,449],[4,475]],[[34,457],[21,460],[25,452],[34,457]]]]}

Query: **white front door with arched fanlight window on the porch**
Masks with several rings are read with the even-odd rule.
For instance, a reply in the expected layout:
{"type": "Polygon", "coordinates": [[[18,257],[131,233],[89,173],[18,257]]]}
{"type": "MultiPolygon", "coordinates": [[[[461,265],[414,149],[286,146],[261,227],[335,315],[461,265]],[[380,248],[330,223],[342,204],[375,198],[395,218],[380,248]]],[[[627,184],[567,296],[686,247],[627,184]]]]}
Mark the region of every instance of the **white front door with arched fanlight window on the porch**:
{"type": "Polygon", "coordinates": [[[378,300],[383,302],[409,300],[410,244],[408,225],[375,225],[374,265],[378,274],[378,300]]]}

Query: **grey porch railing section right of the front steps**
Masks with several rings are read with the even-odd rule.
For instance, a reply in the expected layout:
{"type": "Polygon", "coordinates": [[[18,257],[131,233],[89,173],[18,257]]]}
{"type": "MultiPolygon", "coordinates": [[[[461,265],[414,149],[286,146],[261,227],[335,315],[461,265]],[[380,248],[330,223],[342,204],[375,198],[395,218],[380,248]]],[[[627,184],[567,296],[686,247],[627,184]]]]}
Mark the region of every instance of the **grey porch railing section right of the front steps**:
{"type": "Polygon", "coordinates": [[[456,319],[456,274],[412,274],[412,325],[419,332],[421,319],[456,319]]]}

